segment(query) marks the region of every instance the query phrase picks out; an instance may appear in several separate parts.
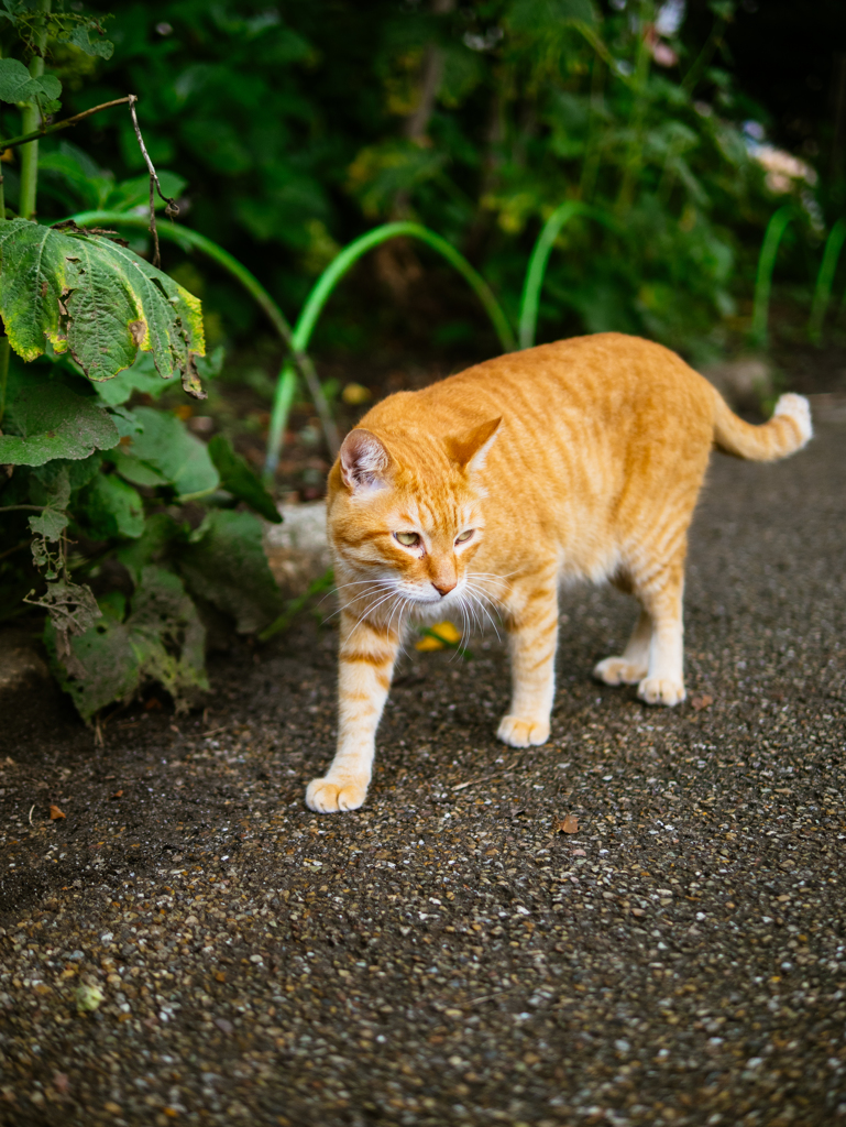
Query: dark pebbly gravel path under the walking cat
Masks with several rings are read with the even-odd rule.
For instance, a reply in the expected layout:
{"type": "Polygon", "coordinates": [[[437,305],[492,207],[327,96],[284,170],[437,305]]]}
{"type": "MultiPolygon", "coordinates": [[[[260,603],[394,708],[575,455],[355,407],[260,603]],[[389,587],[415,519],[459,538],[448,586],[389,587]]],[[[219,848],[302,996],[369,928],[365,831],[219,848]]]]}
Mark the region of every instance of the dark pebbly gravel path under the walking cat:
{"type": "Polygon", "coordinates": [[[413,654],[353,815],[330,628],[101,747],[9,711],[0,1121],[846,1125],[845,445],[714,459],[687,704],[593,684],[632,606],[573,593],[551,742],[493,740],[495,637],[413,654]]]}

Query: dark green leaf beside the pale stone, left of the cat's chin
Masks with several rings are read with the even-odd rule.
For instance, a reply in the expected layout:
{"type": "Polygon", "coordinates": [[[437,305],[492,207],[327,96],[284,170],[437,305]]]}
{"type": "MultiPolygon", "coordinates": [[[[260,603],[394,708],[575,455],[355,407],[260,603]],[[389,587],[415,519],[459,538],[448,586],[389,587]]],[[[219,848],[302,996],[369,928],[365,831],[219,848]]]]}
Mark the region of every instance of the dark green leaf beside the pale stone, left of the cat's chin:
{"type": "Polygon", "coordinates": [[[177,560],[189,591],[233,618],[239,633],[260,630],[282,609],[252,513],[210,513],[177,560]]]}

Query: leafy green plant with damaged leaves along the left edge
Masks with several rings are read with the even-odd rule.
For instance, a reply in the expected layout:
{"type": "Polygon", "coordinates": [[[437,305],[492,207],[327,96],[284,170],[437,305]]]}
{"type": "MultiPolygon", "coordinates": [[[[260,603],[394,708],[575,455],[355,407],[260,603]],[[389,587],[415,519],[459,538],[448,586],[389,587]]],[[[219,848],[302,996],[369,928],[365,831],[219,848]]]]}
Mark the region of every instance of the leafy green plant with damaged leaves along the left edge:
{"type": "MultiPolygon", "coordinates": [[[[32,57],[0,60],[0,100],[27,103],[28,136],[62,92],[44,73],[47,39],[100,56],[110,45],[92,17],[7,9],[32,57]]],[[[204,358],[197,299],[114,232],[32,221],[37,144],[21,148],[21,215],[0,210],[0,606],[46,612],[54,671],[87,721],[150,681],[182,708],[207,687],[204,616],[249,632],[278,614],[253,513],[279,516],[228,440],[206,446],[139,405],[180,381],[204,398],[201,374],[222,354],[204,358]]],[[[68,156],[47,167],[68,178],[68,156]]],[[[79,161],[70,176],[118,211],[139,202],[137,184],[114,188],[79,161]]]]}

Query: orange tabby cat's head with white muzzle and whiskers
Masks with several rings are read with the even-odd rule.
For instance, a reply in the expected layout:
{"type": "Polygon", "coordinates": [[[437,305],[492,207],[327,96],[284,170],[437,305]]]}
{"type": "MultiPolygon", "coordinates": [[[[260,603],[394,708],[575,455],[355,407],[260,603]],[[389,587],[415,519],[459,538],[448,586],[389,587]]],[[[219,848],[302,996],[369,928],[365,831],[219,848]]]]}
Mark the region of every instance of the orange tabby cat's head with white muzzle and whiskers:
{"type": "Polygon", "coordinates": [[[345,602],[419,610],[461,597],[484,535],[484,460],[501,418],[437,438],[357,428],[329,479],[329,532],[345,602]]]}

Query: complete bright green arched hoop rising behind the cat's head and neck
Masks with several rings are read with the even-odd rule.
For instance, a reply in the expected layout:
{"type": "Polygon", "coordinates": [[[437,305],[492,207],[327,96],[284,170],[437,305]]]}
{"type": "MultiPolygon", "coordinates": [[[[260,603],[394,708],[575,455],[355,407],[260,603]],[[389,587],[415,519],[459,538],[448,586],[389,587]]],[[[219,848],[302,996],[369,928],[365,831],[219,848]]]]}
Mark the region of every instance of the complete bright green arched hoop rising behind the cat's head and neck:
{"type": "MultiPolygon", "coordinates": [[[[366,234],[363,234],[355,241],[350,242],[348,247],[345,247],[314,283],[312,291],[302,308],[300,317],[297,318],[296,325],[294,326],[293,348],[295,355],[297,352],[304,352],[309,347],[311,334],[314,329],[317,320],[320,317],[327,301],[331,296],[332,291],[344,275],[363,255],[366,255],[368,250],[377,247],[381,242],[388,241],[388,239],[395,239],[399,236],[419,239],[421,242],[431,247],[433,250],[437,250],[439,255],[454,266],[462,277],[469,283],[484,307],[486,312],[491,319],[491,323],[493,325],[497,336],[499,337],[499,343],[501,344],[504,352],[513,352],[517,347],[517,341],[514,338],[514,330],[508,322],[508,318],[502,312],[499,302],[493,296],[490,286],[484,278],[473,269],[466,258],[458,254],[452,243],[447,242],[446,239],[442,239],[439,234],[435,234],[434,231],[429,231],[427,228],[421,227],[419,223],[383,223],[382,227],[377,227],[375,230],[368,231],[366,234]]],[[[285,409],[285,403],[291,403],[294,393],[294,389],[291,383],[292,379],[293,373],[288,371],[288,365],[286,364],[285,367],[283,367],[279,380],[276,384],[270,433],[267,438],[265,476],[268,478],[273,478],[276,472],[276,467],[279,463],[279,450],[282,449],[282,437],[285,433],[288,414],[287,409],[285,409]]]]}

